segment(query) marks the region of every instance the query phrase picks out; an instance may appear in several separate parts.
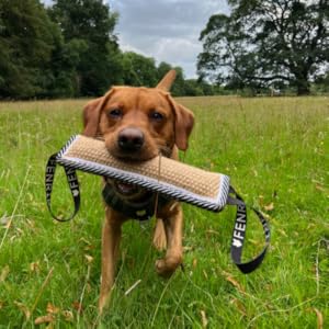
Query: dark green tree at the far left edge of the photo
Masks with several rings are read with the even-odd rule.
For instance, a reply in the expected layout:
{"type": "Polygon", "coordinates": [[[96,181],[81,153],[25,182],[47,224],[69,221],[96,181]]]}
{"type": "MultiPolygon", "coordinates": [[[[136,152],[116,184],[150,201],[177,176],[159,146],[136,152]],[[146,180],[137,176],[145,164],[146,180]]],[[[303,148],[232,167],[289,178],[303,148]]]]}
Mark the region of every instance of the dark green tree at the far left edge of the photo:
{"type": "Polygon", "coordinates": [[[0,98],[44,92],[57,33],[38,0],[0,0],[0,98]]]}

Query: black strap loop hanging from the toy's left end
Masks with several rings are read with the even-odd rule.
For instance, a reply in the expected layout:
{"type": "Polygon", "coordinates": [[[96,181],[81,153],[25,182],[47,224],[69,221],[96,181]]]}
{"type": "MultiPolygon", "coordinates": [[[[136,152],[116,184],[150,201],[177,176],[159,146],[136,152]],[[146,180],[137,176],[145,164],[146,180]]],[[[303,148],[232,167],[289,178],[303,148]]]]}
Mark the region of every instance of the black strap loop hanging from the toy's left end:
{"type": "Polygon", "coordinates": [[[55,171],[56,171],[56,161],[57,154],[53,155],[46,166],[46,175],[45,175],[45,188],[46,188],[46,201],[47,201],[47,207],[49,209],[49,213],[52,214],[53,218],[58,220],[58,222],[68,222],[72,219],[76,214],[79,212],[80,208],[80,189],[79,189],[79,182],[78,182],[78,177],[76,173],[76,170],[73,168],[69,168],[64,166],[64,170],[66,173],[67,182],[69,184],[71,195],[73,197],[75,202],[75,212],[72,215],[66,219],[59,218],[54,215],[52,211],[52,192],[53,192],[53,183],[54,183],[54,178],[55,178],[55,171]]]}

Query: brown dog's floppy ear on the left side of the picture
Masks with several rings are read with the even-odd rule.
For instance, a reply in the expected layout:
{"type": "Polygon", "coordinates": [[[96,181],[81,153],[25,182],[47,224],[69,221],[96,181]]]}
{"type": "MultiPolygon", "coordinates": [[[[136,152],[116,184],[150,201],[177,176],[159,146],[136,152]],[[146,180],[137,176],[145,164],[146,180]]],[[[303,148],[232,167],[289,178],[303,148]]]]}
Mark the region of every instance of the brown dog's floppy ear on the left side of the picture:
{"type": "Polygon", "coordinates": [[[113,93],[111,89],[105,95],[90,101],[83,109],[83,132],[82,135],[88,137],[97,137],[99,134],[99,124],[102,107],[113,93]]]}

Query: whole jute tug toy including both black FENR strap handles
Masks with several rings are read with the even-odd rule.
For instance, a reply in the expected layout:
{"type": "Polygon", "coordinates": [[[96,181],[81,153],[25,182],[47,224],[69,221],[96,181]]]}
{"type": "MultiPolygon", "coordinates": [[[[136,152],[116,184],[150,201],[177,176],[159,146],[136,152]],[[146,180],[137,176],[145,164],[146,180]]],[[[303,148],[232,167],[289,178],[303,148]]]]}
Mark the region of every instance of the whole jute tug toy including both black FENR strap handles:
{"type": "Polygon", "coordinates": [[[225,174],[208,172],[166,157],[156,157],[144,162],[121,161],[110,155],[103,140],[82,135],[72,136],[58,154],[49,158],[46,167],[47,206],[53,217],[61,222],[66,220],[57,218],[50,207],[57,163],[65,168],[75,201],[75,213],[68,219],[76,215],[80,206],[79,183],[75,171],[78,169],[136,184],[158,192],[166,197],[183,201],[213,212],[222,211],[226,204],[236,205],[237,216],[231,240],[231,257],[235,263],[243,273],[249,273],[264,258],[270,240],[270,229],[261,213],[253,209],[263,226],[266,245],[256,259],[248,263],[241,263],[241,251],[247,228],[247,209],[242,198],[229,185],[229,178],[225,174]]]}

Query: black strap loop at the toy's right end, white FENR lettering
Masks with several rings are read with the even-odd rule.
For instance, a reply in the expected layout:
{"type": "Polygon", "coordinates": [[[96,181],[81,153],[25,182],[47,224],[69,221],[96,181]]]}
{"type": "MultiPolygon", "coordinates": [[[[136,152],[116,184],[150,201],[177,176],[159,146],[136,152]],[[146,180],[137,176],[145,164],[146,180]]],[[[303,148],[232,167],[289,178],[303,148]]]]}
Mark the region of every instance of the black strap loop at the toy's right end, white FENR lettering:
{"type": "Polygon", "coordinates": [[[227,204],[237,206],[237,216],[232,231],[230,256],[235,264],[239,268],[239,270],[242,273],[250,273],[261,264],[265,257],[268,247],[270,245],[270,226],[264,216],[256,208],[252,208],[252,211],[258,216],[260,223],[262,224],[265,236],[265,247],[258,257],[256,257],[249,262],[242,263],[241,254],[247,229],[247,207],[242,197],[231,186],[229,188],[229,193],[232,194],[235,197],[228,195],[227,204]]]}

